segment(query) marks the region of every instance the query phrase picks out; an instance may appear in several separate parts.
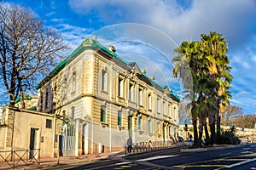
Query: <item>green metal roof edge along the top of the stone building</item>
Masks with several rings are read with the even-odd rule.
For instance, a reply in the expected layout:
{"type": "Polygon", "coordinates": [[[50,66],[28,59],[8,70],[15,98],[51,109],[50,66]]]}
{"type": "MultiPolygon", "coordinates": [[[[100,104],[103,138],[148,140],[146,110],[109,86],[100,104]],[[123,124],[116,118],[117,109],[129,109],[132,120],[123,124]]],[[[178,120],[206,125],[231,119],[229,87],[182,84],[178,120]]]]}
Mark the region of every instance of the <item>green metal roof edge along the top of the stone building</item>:
{"type": "MultiPolygon", "coordinates": [[[[84,42],[82,42],[78,48],[76,48],[72,54],[70,54],[67,59],[64,59],[63,61],[61,61],[61,63],[55,67],[55,69],[53,71],[51,71],[49,73],[49,75],[47,77],[44,78],[43,81],[39,82],[38,85],[36,86],[36,89],[40,89],[46,82],[49,82],[49,80],[52,77],[55,77],[65,66],[67,66],[69,63],[71,63],[73,61],[73,59],[75,59],[77,56],[79,56],[79,54],[82,54],[86,49],[94,49],[94,50],[102,50],[104,52],[106,52],[107,54],[109,54],[110,56],[112,56],[114,59],[118,59],[119,61],[121,61],[122,63],[124,63],[125,65],[128,65],[131,67],[131,65],[136,65],[138,70],[140,71],[138,65],[136,62],[128,62],[125,59],[122,59],[121,57],[119,57],[118,54],[115,54],[113,51],[109,50],[108,48],[102,46],[101,43],[99,43],[96,39],[89,39],[89,38],[84,38],[84,42]]],[[[156,82],[155,80],[151,79],[150,77],[148,77],[148,75],[146,75],[145,73],[143,73],[142,71],[140,71],[141,75],[143,77],[145,77],[146,79],[148,79],[149,82],[154,83],[156,86],[160,87],[160,88],[167,88],[166,85],[161,85],[159,82],[156,82]]],[[[178,101],[180,100],[177,96],[177,94],[172,94],[170,93],[175,99],[177,99],[178,101]]]]}

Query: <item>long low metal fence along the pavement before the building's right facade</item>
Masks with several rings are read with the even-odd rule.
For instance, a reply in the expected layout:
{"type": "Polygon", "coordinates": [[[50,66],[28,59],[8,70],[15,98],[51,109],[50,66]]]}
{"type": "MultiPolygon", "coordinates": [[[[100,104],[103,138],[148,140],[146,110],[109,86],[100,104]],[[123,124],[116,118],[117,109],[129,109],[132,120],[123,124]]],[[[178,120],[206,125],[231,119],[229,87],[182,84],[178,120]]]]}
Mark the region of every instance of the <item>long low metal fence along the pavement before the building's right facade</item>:
{"type": "Polygon", "coordinates": [[[171,148],[175,146],[183,145],[183,142],[173,142],[173,141],[154,141],[154,142],[140,142],[133,144],[131,147],[131,153],[128,153],[128,147],[125,146],[125,154],[134,154],[151,150],[162,150],[166,148],[171,148]]]}

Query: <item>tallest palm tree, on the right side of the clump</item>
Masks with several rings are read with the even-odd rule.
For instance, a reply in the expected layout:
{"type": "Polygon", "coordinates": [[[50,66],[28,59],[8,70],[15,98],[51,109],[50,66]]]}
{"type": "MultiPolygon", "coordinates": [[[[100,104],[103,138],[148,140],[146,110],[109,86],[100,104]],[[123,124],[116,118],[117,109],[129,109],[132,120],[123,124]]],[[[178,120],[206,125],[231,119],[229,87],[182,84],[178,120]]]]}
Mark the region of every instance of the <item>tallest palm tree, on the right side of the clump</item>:
{"type": "Polygon", "coordinates": [[[211,97],[215,101],[216,111],[209,113],[209,125],[212,134],[212,143],[215,143],[215,125],[217,121],[217,134],[220,133],[220,108],[219,106],[229,104],[230,82],[232,76],[230,74],[230,60],[226,55],[228,51],[227,42],[223,35],[216,32],[210,32],[209,35],[201,35],[201,53],[207,59],[207,68],[209,78],[215,83],[215,88],[212,89],[211,97]],[[216,120],[217,117],[217,120],[216,120]]]}

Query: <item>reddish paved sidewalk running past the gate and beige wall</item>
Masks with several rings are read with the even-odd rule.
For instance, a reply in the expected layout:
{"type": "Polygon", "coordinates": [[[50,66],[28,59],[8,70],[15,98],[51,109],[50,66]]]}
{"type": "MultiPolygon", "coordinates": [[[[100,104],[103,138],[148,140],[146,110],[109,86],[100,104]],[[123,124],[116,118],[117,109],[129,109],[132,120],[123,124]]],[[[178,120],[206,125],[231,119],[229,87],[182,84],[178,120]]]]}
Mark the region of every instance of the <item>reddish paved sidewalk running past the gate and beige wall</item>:
{"type": "MultiPolygon", "coordinates": [[[[29,162],[29,165],[26,165],[22,161],[18,164],[15,164],[15,169],[60,169],[65,167],[70,167],[73,163],[78,164],[79,162],[86,164],[92,163],[94,161],[98,161],[100,159],[108,158],[109,156],[124,156],[124,152],[112,152],[112,153],[101,153],[101,154],[90,154],[84,156],[61,156],[58,164],[58,158],[40,158],[40,164],[38,165],[37,162],[32,161],[29,162]]],[[[0,169],[7,170],[12,169],[8,165],[8,163],[0,164],[0,169]]]]}

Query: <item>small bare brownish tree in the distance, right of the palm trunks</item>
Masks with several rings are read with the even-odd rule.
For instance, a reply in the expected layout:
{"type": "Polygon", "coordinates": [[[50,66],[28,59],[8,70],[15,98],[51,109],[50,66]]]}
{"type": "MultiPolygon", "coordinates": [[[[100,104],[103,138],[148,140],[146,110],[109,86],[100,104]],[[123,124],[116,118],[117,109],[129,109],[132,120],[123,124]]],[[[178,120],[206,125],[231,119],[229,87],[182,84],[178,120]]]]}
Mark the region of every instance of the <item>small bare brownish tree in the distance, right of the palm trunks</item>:
{"type": "Polygon", "coordinates": [[[241,107],[236,105],[225,105],[225,111],[221,113],[221,125],[235,125],[237,117],[242,116],[241,107]]]}

